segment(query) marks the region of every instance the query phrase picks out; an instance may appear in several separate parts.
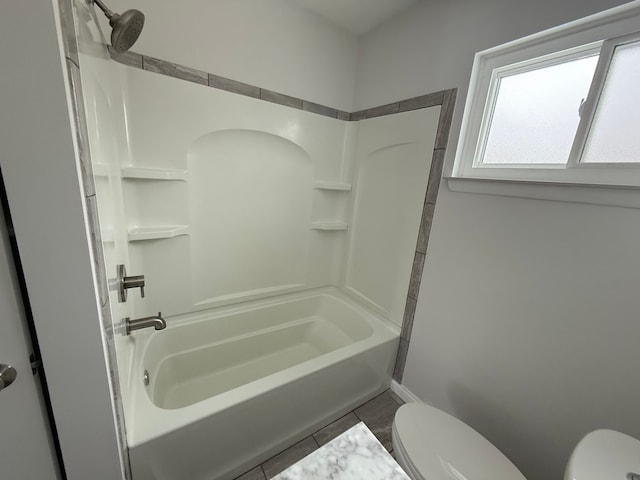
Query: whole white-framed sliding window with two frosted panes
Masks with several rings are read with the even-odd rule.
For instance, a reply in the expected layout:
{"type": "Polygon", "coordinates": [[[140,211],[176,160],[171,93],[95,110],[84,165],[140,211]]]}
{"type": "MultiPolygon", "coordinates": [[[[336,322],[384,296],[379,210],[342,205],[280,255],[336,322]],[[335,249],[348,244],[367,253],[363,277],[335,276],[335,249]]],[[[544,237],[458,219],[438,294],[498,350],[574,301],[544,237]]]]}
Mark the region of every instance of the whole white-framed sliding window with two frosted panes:
{"type": "Polygon", "coordinates": [[[634,2],[478,53],[454,177],[640,186],[639,20],[634,2]]]}

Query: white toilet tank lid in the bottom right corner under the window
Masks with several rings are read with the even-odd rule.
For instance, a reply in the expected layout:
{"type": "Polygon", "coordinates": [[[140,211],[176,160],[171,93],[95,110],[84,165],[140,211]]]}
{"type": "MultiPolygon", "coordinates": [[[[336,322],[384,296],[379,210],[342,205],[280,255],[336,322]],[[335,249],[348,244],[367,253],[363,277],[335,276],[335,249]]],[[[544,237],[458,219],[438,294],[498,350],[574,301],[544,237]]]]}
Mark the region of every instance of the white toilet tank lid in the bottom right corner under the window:
{"type": "Polygon", "coordinates": [[[640,475],[640,440],[615,430],[596,430],[576,445],[565,479],[626,480],[629,473],[640,475]]]}

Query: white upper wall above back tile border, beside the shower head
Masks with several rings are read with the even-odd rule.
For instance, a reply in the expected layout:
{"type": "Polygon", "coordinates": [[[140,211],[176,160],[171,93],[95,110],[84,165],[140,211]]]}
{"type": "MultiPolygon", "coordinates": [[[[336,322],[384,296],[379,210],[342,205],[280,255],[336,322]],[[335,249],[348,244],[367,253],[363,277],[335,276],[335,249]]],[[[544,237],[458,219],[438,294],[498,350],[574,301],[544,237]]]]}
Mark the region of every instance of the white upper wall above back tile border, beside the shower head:
{"type": "Polygon", "coordinates": [[[135,52],[351,111],[357,39],[293,2],[112,0],[109,6],[145,13],[135,52]]]}

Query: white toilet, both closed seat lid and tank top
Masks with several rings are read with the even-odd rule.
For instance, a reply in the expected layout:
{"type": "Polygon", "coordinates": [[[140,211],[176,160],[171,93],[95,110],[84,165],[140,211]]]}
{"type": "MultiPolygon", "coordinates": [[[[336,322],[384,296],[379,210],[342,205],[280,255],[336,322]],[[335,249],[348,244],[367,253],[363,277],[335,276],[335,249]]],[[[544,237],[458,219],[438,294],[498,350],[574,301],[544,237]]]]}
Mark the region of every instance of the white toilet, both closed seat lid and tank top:
{"type": "MultiPolygon", "coordinates": [[[[412,480],[526,480],[473,428],[423,403],[398,409],[392,441],[398,463],[412,480]]],[[[613,430],[596,430],[578,443],[565,480],[605,479],[640,480],[639,440],[613,430]]]]}

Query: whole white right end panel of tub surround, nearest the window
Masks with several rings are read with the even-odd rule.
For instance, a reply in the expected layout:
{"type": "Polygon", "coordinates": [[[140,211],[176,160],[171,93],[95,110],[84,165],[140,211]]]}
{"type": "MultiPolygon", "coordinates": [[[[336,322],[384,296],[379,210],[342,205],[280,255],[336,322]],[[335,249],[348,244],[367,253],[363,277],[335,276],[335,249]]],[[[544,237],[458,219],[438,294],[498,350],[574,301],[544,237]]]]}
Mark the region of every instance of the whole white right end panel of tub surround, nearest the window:
{"type": "Polygon", "coordinates": [[[440,108],[360,122],[344,286],[402,326],[440,108]]]}

